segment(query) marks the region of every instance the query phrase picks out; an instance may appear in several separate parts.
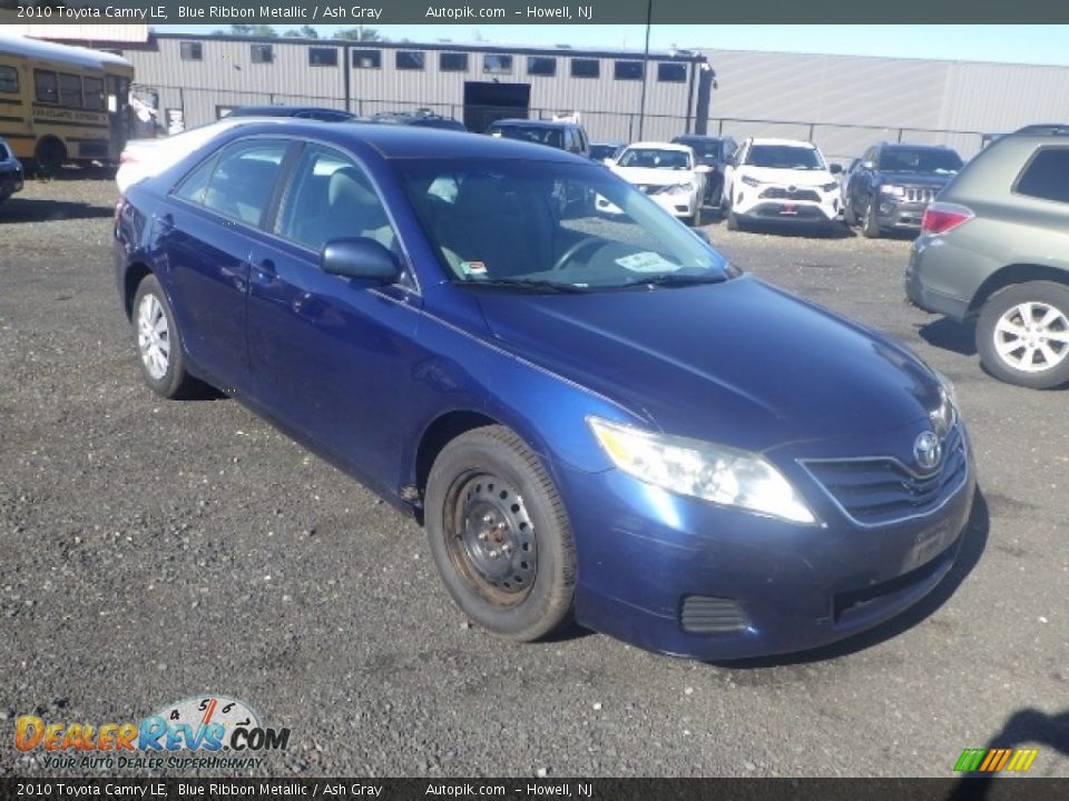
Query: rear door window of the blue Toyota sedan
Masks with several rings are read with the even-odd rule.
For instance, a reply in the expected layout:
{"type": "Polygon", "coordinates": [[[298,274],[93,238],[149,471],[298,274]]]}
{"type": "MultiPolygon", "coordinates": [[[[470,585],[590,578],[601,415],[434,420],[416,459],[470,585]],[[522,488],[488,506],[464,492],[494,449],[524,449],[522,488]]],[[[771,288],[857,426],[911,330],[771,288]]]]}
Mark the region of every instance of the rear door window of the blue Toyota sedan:
{"type": "Polygon", "coordinates": [[[248,225],[259,225],[286,147],[282,141],[257,140],[224,149],[203,192],[203,205],[248,225]]]}

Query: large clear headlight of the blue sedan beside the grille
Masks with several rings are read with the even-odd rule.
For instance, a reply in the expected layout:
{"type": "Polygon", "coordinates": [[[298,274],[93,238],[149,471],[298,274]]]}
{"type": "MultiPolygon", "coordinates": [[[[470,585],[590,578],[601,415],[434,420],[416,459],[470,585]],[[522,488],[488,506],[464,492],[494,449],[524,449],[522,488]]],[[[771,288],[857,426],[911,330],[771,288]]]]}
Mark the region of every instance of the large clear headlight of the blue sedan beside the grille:
{"type": "Polygon", "coordinates": [[[791,483],[757,454],[654,434],[600,417],[588,422],[612,463],[639,481],[793,523],[816,523],[791,483]]]}

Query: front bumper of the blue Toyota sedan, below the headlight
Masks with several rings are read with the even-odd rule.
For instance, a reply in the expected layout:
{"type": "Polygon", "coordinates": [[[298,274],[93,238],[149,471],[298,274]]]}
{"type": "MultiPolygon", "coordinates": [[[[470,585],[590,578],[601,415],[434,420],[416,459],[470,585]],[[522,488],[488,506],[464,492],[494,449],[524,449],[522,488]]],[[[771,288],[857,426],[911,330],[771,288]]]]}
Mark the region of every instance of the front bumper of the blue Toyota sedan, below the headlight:
{"type": "Polygon", "coordinates": [[[879,526],[855,524],[812,486],[805,494],[822,523],[806,526],[615,469],[563,469],[579,555],[577,620],[708,660],[803,651],[864,631],[922,599],[953,565],[975,490],[968,464],[930,514],[879,526]]]}

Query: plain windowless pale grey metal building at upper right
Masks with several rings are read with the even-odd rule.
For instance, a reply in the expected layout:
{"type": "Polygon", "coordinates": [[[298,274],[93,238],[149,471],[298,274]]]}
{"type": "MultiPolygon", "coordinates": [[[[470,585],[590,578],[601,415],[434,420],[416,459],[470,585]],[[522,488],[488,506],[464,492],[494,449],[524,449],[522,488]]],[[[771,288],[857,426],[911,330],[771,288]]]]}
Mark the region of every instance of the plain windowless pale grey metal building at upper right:
{"type": "Polygon", "coordinates": [[[716,67],[710,132],[812,139],[838,158],[877,141],[949,145],[1069,117],[1069,67],[703,50],[716,67]]]}

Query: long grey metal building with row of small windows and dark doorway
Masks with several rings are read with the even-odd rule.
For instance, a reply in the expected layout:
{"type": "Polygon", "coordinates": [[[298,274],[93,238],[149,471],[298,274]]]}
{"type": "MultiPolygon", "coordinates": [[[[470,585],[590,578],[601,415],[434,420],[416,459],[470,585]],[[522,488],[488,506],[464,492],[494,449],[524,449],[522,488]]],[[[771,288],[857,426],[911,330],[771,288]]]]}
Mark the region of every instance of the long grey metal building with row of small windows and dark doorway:
{"type": "Polygon", "coordinates": [[[708,66],[689,51],[650,52],[644,68],[640,51],[177,33],[117,51],[164,129],[237,106],[303,103],[357,115],[426,108],[475,131],[502,116],[578,115],[591,139],[631,141],[693,130],[708,105],[708,66]]]}

